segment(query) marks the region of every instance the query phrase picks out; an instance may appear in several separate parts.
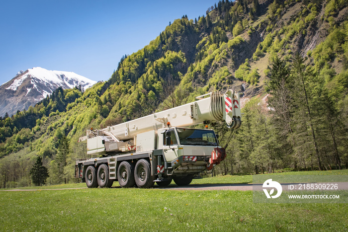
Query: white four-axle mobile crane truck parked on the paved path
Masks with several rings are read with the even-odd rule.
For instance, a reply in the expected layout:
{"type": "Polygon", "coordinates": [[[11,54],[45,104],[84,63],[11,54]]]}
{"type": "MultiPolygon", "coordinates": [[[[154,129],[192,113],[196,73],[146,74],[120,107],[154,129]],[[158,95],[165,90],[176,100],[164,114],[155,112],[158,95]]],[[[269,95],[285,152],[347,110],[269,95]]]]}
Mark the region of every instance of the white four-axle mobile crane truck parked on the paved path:
{"type": "Polygon", "coordinates": [[[87,142],[87,155],[77,159],[75,177],[88,188],[150,188],[188,185],[200,172],[212,170],[226,157],[213,130],[187,128],[197,124],[225,121],[226,126],[241,126],[240,94],[210,92],[196,101],[142,118],[87,130],[79,142],[87,142]]]}

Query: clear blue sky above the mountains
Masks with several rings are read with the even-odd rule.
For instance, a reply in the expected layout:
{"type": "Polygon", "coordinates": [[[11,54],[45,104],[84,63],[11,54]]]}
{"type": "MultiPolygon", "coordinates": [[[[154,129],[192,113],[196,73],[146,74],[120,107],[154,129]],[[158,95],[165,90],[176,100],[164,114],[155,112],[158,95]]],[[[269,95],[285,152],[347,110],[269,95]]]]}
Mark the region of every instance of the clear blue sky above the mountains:
{"type": "Polygon", "coordinates": [[[42,67],[107,80],[124,54],[148,45],[169,22],[205,15],[217,0],[4,0],[0,84],[42,67]]]}

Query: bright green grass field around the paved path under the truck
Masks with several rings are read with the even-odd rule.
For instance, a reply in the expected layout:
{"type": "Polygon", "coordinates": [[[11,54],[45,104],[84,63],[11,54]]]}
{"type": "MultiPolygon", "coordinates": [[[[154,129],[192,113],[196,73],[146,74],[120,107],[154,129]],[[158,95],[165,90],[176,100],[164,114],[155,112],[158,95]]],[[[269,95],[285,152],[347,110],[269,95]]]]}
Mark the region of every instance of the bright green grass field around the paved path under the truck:
{"type": "MultiPolygon", "coordinates": [[[[284,174],[298,173],[310,174],[284,174]]],[[[348,172],[320,173],[347,175],[348,172]]],[[[193,183],[251,183],[251,177],[227,175],[197,179],[193,183]]],[[[0,231],[348,230],[347,204],[255,204],[252,191],[43,190],[85,186],[70,184],[40,187],[37,191],[0,191],[0,231]]]]}

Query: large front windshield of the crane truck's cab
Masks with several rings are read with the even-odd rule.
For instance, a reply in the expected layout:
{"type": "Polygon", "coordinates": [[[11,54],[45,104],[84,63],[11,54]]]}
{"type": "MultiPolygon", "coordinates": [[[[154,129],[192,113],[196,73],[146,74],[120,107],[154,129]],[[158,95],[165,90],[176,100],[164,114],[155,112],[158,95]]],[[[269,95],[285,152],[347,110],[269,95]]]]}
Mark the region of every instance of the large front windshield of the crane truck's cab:
{"type": "Polygon", "coordinates": [[[214,131],[176,128],[181,145],[218,146],[214,131]]]}

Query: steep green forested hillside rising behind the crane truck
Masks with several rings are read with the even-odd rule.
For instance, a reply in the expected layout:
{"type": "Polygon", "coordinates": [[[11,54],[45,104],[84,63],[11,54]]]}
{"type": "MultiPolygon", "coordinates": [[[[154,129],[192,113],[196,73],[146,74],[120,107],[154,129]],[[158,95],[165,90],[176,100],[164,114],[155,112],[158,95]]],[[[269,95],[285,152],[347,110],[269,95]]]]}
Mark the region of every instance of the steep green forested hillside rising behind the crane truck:
{"type": "Polygon", "coordinates": [[[49,184],[74,181],[78,139],[228,88],[244,92],[242,127],[214,126],[227,158],[215,174],[348,166],[347,0],[222,0],[170,23],[85,92],[57,89],[0,118],[0,187],[31,184],[42,156],[49,184]],[[202,12],[204,13],[204,12],[202,12]]]}

